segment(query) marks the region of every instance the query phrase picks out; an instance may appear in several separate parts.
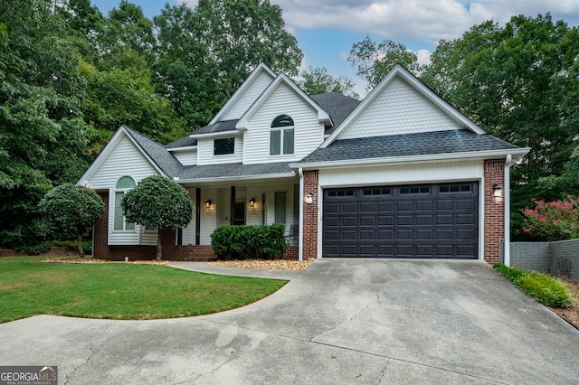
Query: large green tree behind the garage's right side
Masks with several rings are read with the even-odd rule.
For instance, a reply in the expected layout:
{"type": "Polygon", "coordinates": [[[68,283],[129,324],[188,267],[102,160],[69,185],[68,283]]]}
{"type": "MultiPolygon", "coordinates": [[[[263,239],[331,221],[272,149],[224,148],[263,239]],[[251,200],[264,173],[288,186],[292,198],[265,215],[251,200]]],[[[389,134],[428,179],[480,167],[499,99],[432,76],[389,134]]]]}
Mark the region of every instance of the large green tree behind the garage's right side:
{"type": "Polygon", "coordinates": [[[539,178],[558,175],[577,133],[579,33],[551,16],[475,25],[441,42],[422,80],[487,132],[530,153],[513,168],[513,228],[531,198],[552,198],[539,178]]]}

